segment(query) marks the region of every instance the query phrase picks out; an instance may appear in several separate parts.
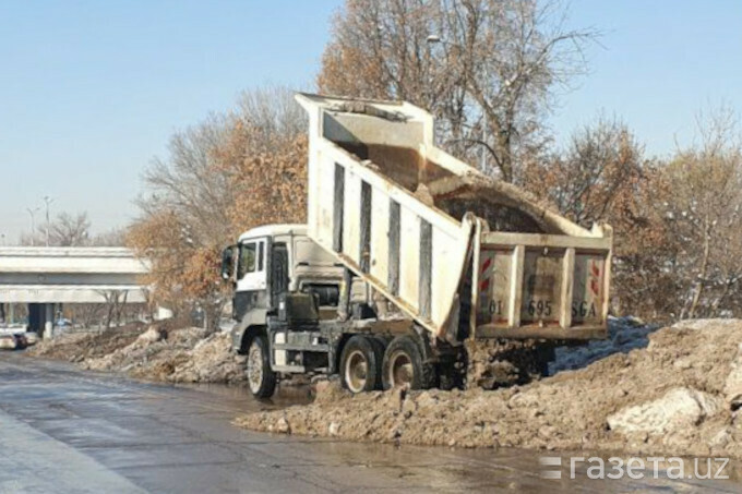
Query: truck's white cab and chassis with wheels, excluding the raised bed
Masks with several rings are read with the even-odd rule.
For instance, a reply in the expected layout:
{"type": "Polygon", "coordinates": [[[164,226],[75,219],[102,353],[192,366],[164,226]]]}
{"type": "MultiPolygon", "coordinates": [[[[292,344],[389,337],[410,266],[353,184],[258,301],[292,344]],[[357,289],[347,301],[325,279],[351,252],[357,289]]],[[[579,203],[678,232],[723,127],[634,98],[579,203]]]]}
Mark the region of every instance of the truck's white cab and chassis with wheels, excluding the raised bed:
{"type": "Polygon", "coordinates": [[[422,340],[409,336],[412,320],[380,316],[369,285],[310,239],[303,225],[244,232],[224,250],[222,276],[234,285],[232,349],[247,356],[248,385],[258,397],[272,396],[278,378],[291,374],[339,373],[352,393],[421,387],[420,379],[432,376],[422,340]]]}

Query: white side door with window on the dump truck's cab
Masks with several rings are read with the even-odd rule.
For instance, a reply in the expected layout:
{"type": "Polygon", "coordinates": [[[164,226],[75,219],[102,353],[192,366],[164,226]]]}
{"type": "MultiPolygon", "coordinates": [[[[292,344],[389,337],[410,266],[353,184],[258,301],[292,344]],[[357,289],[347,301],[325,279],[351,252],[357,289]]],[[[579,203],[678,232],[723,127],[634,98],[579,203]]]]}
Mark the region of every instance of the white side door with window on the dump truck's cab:
{"type": "Polygon", "coordinates": [[[234,299],[234,316],[237,321],[241,321],[253,309],[267,308],[266,244],[266,239],[251,239],[239,245],[234,299]]]}

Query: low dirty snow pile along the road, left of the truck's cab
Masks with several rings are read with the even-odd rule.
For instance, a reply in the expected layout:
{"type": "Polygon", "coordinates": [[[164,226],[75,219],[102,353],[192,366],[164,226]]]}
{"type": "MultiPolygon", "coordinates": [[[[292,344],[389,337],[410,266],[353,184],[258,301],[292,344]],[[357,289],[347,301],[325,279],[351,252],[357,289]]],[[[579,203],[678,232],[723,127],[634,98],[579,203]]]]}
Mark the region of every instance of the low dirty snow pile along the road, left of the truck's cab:
{"type": "Polygon", "coordinates": [[[124,372],[170,383],[236,383],[244,381],[244,358],[235,356],[229,335],[203,329],[110,329],[45,341],[31,354],[77,362],[93,371],[124,372]]]}

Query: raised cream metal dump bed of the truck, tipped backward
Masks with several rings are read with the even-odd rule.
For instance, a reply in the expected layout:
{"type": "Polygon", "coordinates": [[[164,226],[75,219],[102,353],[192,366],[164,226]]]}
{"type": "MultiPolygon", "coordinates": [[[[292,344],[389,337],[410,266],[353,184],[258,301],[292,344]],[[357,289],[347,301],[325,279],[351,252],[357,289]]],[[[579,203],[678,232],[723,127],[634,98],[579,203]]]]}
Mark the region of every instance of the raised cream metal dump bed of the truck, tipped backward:
{"type": "Polygon", "coordinates": [[[300,94],[308,233],[452,341],[606,333],[611,230],[586,230],[434,146],[407,103],[300,94]]]}

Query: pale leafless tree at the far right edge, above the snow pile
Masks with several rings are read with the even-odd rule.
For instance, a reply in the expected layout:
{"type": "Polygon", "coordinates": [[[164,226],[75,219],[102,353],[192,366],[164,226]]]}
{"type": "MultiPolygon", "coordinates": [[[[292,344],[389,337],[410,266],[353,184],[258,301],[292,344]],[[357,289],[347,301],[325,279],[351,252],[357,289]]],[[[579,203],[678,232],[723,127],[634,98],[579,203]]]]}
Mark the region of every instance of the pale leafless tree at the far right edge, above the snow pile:
{"type": "Polygon", "coordinates": [[[742,278],[742,144],[737,117],[720,108],[699,117],[697,146],[680,150],[668,165],[672,197],[662,204],[675,242],[671,260],[680,317],[739,310],[742,278]]]}

